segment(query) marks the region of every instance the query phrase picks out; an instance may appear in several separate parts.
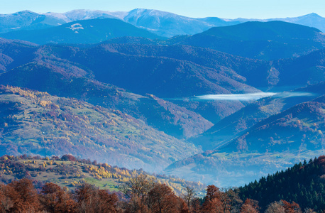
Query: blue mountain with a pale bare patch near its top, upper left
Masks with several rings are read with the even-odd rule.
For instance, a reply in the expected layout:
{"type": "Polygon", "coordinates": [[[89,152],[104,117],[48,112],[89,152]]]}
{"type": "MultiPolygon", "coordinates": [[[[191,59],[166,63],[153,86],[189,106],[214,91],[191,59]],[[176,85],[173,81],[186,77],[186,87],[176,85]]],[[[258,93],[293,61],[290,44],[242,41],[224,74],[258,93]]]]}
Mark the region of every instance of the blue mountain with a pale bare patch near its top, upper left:
{"type": "Polygon", "coordinates": [[[52,28],[1,33],[0,36],[8,39],[28,40],[40,45],[45,43],[92,44],[123,36],[162,38],[116,18],[73,21],[52,28]]]}

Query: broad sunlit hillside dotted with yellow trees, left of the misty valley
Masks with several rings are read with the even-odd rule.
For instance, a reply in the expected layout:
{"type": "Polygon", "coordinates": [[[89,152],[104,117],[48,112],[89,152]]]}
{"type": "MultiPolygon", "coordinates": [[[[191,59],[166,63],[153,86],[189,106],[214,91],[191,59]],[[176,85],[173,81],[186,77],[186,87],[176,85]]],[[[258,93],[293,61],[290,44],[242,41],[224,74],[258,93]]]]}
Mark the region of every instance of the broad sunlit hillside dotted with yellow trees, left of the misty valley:
{"type": "Polygon", "coordinates": [[[2,87],[0,100],[1,154],[72,153],[159,171],[199,151],[121,111],[77,99],[2,87]]]}

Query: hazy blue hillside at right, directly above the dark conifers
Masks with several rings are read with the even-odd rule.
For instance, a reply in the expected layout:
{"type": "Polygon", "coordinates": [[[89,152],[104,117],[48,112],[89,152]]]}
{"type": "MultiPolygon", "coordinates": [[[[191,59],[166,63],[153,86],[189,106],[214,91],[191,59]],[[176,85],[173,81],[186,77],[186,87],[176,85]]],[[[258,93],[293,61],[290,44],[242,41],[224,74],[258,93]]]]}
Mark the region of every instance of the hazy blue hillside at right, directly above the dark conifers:
{"type": "Polygon", "coordinates": [[[297,104],[260,121],[214,151],[173,163],[165,172],[219,185],[244,185],[249,179],[321,155],[324,106],[324,96],[297,104]]]}

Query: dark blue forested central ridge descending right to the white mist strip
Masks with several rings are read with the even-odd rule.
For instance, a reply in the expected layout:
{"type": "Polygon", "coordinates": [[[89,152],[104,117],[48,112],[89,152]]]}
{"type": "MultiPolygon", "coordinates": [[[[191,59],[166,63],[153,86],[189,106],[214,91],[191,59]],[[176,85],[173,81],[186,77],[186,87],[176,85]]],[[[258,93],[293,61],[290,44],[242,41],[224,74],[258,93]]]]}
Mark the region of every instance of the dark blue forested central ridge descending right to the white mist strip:
{"type": "Polygon", "coordinates": [[[240,109],[243,104],[241,102],[192,104],[187,98],[209,93],[230,94],[260,90],[245,84],[245,78],[233,71],[239,70],[238,67],[245,67],[246,64],[254,65],[253,60],[233,57],[233,60],[220,62],[220,65],[217,63],[209,67],[200,65],[207,61],[209,56],[216,57],[215,62],[232,58],[231,55],[223,53],[204,55],[208,52],[208,49],[197,50],[183,46],[170,48],[160,45],[104,43],[82,49],[52,45],[40,50],[39,54],[54,55],[55,58],[77,63],[92,70],[94,78],[98,81],[114,84],[136,94],[153,94],[202,114],[205,119],[214,122],[240,109]],[[170,54],[171,51],[179,54],[170,54]],[[238,65],[239,62],[243,64],[238,65]]]}

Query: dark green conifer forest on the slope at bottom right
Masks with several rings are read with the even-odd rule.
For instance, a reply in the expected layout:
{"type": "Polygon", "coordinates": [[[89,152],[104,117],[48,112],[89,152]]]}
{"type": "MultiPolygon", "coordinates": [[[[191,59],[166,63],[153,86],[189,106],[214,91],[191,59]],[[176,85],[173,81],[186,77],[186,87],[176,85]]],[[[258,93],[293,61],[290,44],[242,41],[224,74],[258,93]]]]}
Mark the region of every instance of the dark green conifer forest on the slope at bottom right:
{"type": "Polygon", "coordinates": [[[325,209],[325,156],[295,164],[292,168],[240,187],[241,199],[258,200],[266,209],[274,200],[299,203],[303,209],[316,212],[325,209]]]}

